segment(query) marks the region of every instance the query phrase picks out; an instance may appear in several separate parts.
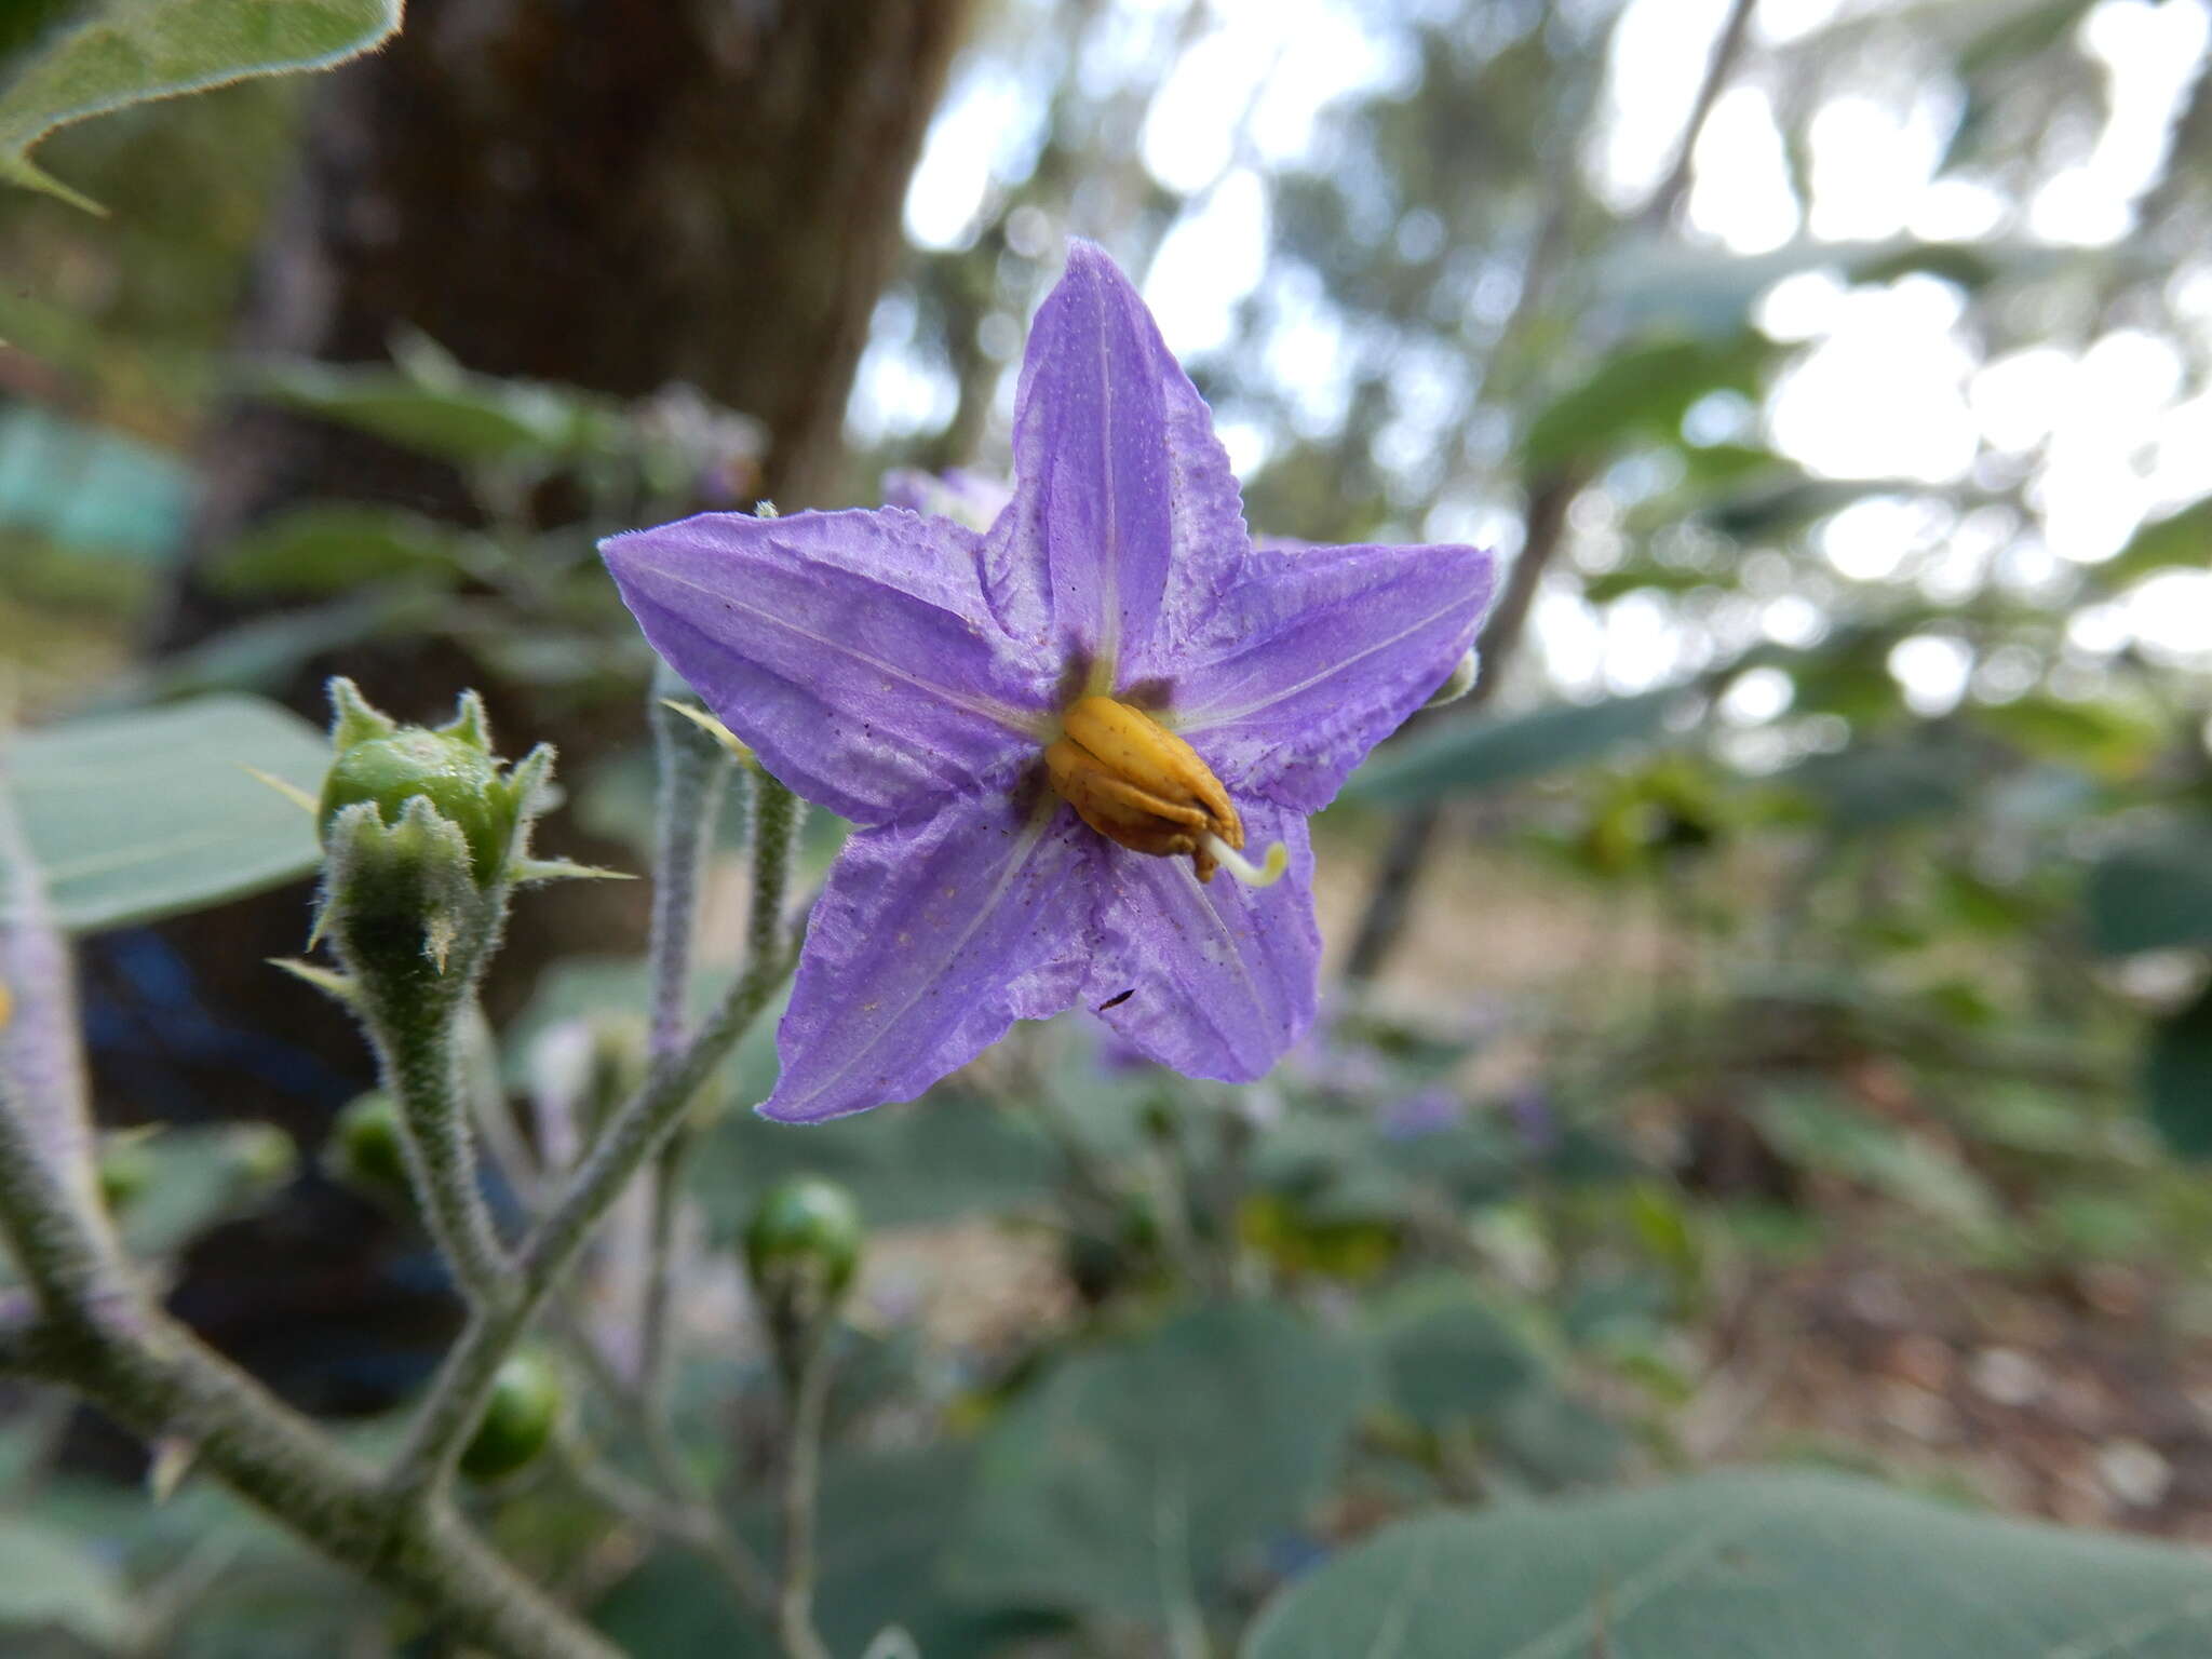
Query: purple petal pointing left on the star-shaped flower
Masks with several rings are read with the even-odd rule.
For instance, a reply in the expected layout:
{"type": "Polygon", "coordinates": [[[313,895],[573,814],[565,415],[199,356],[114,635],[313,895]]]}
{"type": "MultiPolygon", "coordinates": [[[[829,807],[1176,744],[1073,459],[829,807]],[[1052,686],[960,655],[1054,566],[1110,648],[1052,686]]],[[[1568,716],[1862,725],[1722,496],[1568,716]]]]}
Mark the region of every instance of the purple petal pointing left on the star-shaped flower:
{"type": "Polygon", "coordinates": [[[1011,641],[975,538],[911,513],[701,513],[602,542],[624,604],[799,794],[885,823],[1004,792],[1057,666],[1011,641]]]}

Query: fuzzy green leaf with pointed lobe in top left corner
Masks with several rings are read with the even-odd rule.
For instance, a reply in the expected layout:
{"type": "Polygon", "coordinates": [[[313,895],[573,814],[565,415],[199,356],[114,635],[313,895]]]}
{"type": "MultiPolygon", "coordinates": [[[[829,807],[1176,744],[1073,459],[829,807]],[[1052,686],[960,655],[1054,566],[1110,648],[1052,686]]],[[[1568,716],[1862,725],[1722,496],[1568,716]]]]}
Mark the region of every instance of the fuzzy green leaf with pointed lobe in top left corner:
{"type": "Polygon", "coordinates": [[[150,97],[327,69],[400,27],[403,0],[106,0],[0,93],[0,181],[100,212],[31,161],[46,133],[150,97]]]}

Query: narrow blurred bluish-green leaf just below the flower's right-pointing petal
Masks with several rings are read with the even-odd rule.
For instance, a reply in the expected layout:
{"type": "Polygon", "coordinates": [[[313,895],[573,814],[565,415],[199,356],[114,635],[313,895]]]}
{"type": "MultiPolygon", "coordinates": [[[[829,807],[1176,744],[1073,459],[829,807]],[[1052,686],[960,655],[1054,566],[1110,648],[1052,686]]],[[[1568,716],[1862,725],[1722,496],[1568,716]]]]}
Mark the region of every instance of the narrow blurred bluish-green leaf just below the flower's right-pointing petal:
{"type": "Polygon", "coordinates": [[[1683,690],[1670,686],[1506,719],[1442,719],[1354,772],[1345,794],[1358,801],[1411,803],[1460,790],[1502,790],[1509,783],[1595,761],[1624,743],[1648,741],[1681,701],[1683,690]]]}

